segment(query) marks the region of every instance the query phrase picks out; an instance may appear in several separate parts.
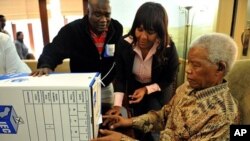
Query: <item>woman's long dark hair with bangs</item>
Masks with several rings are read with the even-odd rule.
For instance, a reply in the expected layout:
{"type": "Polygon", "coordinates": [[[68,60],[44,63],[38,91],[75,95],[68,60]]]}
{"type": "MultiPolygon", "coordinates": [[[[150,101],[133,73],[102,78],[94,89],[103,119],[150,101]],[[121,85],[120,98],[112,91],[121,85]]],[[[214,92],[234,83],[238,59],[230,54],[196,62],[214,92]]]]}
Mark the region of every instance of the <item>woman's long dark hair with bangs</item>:
{"type": "MultiPolygon", "coordinates": [[[[156,54],[161,57],[164,56],[165,49],[170,43],[168,34],[168,15],[164,7],[159,3],[146,2],[139,7],[136,12],[134,22],[128,35],[133,37],[133,43],[137,42],[135,37],[136,28],[143,26],[145,30],[153,30],[158,34],[160,39],[160,46],[156,54]]],[[[162,60],[161,58],[160,60],[162,60]]]]}

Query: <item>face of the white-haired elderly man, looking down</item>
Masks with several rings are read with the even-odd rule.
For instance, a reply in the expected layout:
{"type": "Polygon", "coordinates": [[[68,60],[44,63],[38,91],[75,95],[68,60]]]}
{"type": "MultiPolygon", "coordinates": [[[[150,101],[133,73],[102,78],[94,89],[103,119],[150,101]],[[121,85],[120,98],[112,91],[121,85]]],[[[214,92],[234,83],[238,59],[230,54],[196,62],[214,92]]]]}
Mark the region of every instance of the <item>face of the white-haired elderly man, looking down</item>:
{"type": "Polygon", "coordinates": [[[194,89],[204,89],[219,83],[217,65],[208,60],[208,52],[199,46],[191,48],[186,67],[187,80],[194,89]]]}

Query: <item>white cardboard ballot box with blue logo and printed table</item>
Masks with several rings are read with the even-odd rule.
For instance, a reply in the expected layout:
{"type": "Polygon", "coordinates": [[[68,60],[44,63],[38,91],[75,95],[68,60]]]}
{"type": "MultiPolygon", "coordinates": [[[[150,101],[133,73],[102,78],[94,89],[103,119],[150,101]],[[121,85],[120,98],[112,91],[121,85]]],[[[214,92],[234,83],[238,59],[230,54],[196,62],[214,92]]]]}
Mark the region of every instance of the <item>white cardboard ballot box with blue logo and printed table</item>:
{"type": "Polygon", "coordinates": [[[99,73],[0,75],[0,141],[89,141],[101,121],[99,73]]]}

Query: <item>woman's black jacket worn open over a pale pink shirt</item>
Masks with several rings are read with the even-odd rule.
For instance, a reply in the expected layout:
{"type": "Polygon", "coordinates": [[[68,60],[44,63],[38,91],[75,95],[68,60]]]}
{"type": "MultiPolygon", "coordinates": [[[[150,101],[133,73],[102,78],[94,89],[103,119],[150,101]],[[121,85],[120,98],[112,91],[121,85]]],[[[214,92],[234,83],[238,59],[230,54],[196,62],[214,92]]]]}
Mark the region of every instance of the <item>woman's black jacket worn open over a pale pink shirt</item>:
{"type": "MultiPolygon", "coordinates": [[[[125,38],[125,37],[124,37],[125,38]]],[[[114,83],[115,92],[124,92],[132,94],[135,89],[135,76],[132,72],[135,52],[132,44],[123,39],[116,47],[116,77],[114,83]]],[[[152,81],[150,84],[157,83],[161,90],[165,90],[174,81],[179,60],[175,44],[171,41],[170,47],[165,48],[164,61],[160,63],[158,57],[154,54],[152,61],[152,81]]]]}

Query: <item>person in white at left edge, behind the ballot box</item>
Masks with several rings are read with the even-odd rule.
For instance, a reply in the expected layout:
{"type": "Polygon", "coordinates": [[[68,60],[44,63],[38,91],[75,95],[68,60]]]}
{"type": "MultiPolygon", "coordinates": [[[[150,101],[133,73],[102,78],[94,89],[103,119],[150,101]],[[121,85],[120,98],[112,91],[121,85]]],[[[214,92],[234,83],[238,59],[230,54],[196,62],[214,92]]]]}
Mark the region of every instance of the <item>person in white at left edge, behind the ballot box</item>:
{"type": "Polygon", "coordinates": [[[9,35],[0,32],[0,74],[30,72],[30,68],[19,58],[9,35]]]}

